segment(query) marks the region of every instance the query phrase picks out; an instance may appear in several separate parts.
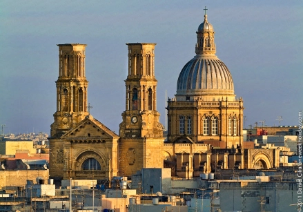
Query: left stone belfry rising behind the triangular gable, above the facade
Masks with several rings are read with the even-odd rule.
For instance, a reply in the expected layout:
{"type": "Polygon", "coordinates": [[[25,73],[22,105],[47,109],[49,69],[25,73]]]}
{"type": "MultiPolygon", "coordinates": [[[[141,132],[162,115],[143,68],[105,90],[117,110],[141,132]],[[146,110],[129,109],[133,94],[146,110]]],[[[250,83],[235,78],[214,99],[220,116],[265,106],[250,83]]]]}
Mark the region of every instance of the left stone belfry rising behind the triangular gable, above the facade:
{"type": "Polygon", "coordinates": [[[58,44],[59,77],[57,111],[54,113],[50,136],[61,137],[72,126],[83,120],[87,111],[88,81],[85,76],[86,44],[58,44]]]}

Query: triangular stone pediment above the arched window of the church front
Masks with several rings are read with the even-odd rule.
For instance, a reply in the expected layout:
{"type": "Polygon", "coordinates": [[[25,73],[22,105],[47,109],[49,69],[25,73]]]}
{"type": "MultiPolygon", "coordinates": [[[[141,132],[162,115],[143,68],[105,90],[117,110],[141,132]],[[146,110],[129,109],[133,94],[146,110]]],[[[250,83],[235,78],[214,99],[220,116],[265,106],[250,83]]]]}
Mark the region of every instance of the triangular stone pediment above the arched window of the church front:
{"type": "Polygon", "coordinates": [[[86,117],[84,120],[62,135],[61,139],[118,139],[119,136],[110,131],[97,119],[86,117]]]}

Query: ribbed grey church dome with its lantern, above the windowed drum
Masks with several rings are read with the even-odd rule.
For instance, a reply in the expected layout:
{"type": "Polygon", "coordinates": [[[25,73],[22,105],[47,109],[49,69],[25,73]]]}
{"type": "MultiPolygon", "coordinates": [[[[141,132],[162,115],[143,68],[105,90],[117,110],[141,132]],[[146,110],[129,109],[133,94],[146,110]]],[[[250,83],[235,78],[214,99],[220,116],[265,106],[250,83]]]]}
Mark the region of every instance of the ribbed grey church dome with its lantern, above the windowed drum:
{"type": "Polygon", "coordinates": [[[197,55],[182,68],[175,96],[235,97],[231,73],[215,55],[215,31],[206,14],[196,33],[197,55]]]}

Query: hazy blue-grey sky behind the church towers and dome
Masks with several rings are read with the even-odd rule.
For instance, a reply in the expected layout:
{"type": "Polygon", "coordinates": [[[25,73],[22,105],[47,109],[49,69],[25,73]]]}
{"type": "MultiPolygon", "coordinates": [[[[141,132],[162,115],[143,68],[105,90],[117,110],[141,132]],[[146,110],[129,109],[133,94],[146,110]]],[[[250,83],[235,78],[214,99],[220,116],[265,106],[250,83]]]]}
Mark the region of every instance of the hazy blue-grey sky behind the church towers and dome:
{"type": "Polygon", "coordinates": [[[59,74],[57,44],[87,44],[90,113],[118,133],[125,110],[126,43],[156,43],[157,110],[195,56],[196,30],[215,30],[217,57],[244,100],[245,126],[298,125],[303,109],[303,2],[0,1],[0,124],[7,133],[50,133],[59,74]],[[277,121],[282,116],[282,121],[277,121]]]}

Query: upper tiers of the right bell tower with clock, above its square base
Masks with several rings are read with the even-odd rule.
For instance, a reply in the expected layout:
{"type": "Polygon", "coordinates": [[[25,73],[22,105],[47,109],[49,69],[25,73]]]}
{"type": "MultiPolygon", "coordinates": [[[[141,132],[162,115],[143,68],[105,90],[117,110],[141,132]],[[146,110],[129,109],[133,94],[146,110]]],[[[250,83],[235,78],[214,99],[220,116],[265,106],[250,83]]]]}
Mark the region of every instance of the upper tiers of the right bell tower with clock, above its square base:
{"type": "Polygon", "coordinates": [[[120,137],[162,137],[162,124],[157,111],[155,78],[155,45],[128,45],[126,108],[122,113],[120,137]]]}

